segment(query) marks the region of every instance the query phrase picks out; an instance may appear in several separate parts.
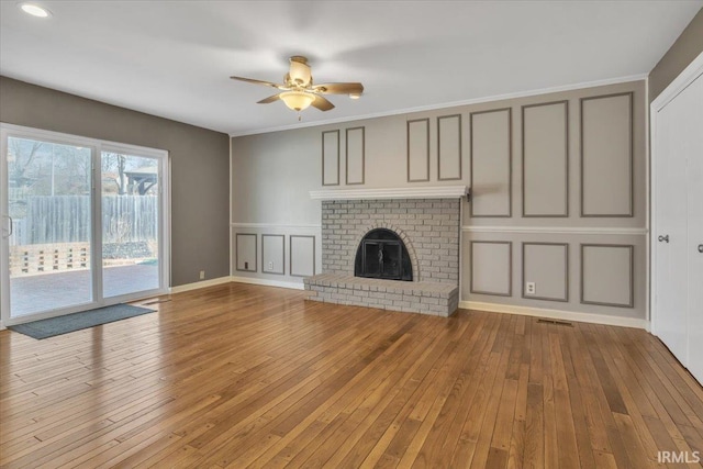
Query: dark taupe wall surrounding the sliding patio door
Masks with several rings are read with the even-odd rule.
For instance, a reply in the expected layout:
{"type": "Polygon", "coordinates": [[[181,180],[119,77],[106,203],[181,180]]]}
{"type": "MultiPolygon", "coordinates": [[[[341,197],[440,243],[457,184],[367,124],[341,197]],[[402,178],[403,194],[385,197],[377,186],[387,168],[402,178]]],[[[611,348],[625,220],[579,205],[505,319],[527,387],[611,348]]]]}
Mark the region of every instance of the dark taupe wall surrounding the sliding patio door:
{"type": "Polygon", "coordinates": [[[171,286],[230,275],[226,134],[7,77],[0,103],[0,122],[168,150],[171,286]]]}

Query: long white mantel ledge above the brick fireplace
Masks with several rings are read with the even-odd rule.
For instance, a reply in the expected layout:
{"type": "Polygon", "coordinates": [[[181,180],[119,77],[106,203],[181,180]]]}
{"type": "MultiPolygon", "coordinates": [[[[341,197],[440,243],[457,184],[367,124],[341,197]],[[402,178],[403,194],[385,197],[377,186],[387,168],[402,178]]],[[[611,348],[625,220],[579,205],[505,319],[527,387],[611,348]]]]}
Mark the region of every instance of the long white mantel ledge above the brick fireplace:
{"type": "Polygon", "coordinates": [[[466,186],[424,186],[413,188],[327,189],[311,190],[313,200],[375,199],[454,199],[468,196],[466,186]]]}

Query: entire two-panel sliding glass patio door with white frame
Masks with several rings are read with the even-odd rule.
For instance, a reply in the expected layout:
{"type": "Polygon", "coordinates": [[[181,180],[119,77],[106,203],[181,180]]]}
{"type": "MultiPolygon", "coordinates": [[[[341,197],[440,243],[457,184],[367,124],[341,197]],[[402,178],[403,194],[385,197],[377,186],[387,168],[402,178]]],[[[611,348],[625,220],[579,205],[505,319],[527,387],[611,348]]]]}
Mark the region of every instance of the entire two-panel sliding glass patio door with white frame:
{"type": "Polygon", "coordinates": [[[4,124],[1,138],[5,325],[168,290],[166,152],[4,124]]]}

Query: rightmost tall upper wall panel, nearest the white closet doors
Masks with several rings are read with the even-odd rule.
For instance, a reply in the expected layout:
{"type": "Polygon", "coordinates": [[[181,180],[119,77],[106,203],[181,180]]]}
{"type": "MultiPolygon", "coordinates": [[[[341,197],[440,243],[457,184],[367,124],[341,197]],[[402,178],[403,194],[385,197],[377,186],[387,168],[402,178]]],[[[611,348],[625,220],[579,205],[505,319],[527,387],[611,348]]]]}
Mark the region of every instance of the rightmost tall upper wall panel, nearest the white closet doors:
{"type": "Polygon", "coordinates": [[[633,93],[581,99],[581,216],[633,216],[633,93]]]}

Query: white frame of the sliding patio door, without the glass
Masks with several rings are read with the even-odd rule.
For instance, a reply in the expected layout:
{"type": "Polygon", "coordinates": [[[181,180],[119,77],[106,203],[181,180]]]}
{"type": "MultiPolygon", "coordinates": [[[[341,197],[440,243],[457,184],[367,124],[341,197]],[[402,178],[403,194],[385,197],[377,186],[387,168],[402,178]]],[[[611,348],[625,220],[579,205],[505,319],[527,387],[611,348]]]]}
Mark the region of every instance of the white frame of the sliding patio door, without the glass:
{"type": "Polygon", "coordinates": [[[13,124],[0,123],[0,178],[2,189],[0,190],[0,214],[2,214],[2,239],[0,239],[0,326],[10,326],[29,321],[36,321],[46,317],[54,317],[86,311],[92,308],[107,306],[126,301],[135,301],[144,298],[166,294],[170,286],[170,158],[167,150],[149,148],[137,145],[130,145],[116,142],[101,141],[82,137],[78,135],[51,132],[38,129],[25,127],[13,124]],[[64,145],[83,146],[91,150],[91,284],[92,301],[45,311],[37,314],[11,317],[10,316],[10,242],[7,228],[10,220],[5,215],[9,209],[9,179],[8,179],[8,138],[32,138],[42,142],[57,143],[64,145]],[[102,166],[101,158],[103,152],[127,154],[130,156],[141,156],[154,158],[158,163],[158,276],[159,287],[152,290],[144,290],[136,293],[122,294],[119,297],[103,297],[103,267],[102,267],[102,166]]]}

